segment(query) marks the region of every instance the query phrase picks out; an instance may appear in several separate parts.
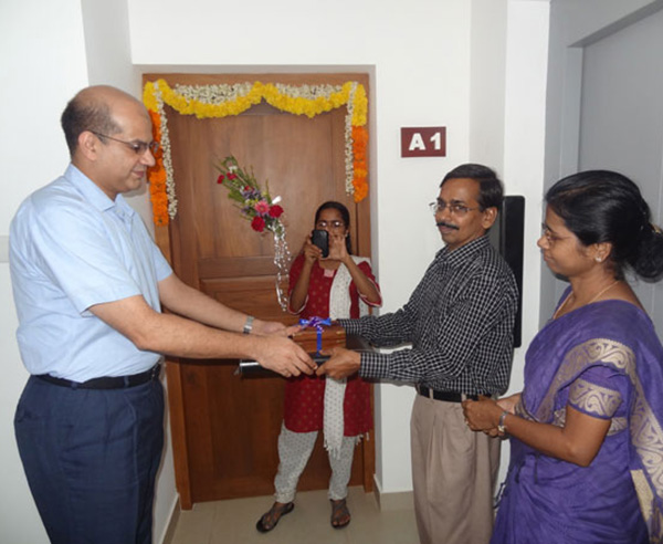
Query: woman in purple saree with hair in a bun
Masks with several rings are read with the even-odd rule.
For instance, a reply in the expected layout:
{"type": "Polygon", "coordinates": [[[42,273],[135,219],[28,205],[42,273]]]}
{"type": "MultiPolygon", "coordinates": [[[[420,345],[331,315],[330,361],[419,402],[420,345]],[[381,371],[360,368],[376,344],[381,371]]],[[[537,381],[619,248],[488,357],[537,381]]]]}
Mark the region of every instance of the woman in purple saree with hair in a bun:
{"type": "Polygon", "coordinates": [[[546,196],[538,244],[570,287],[532,342],[522,394],[464,404],[511,437],[492,544],[663,542],[663,347],[624,270],[663,275],[638,187],[580,172],[546,196]]]}

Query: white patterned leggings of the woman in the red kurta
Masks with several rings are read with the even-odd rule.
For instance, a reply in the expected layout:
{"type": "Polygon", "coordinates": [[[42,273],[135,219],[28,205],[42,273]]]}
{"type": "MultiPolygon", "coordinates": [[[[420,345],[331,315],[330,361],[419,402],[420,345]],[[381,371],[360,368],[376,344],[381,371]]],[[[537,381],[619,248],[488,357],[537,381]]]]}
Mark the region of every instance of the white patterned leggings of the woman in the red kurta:
{"type": "MultiPolygon", "coordinates": [[[[318,431],[293,432],[281,426],[278,435],[278,471],[274,478],[274,496],[277,502],[291,502],[295,499],[297,482],[308,458],[313,452],[318,431]]],[[[329,456],[332,478],[329,479],[329,499],[338,501],[348,494],[348,482],[352,470],[352,456],[359,437],[343,437],[338,458],[329,456]]]]}

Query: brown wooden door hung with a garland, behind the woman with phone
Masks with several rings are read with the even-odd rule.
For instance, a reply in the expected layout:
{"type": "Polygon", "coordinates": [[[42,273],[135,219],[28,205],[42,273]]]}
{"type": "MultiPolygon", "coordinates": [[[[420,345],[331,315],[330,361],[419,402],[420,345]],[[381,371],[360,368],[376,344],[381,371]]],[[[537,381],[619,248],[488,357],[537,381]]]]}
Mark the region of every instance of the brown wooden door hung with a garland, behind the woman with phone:
{"type": "MultiPolygon", "coordinates": [[[[175,83],[209,84],[339,83],[352,76],[190,76],[149,75],[175,83]]],[[[364,79],[366,80],[366,77],[364,79]]],[[[367,85],[367,81],[361,81],[367,85]]],[[[351,213],[356,253],[369,255],[367,203],[345,193],[345,108],[312,119],[267,104],[221,119],[197,119],[167,109],[178,215],[169,228],[176,273],[224,304],[265,320],[296,322],[282,311],[275,291],[273,240],[254,232],[217,184],[214,161],[234,155],[253,169],[263,188],[282,197],[287,242],[295,255],[325,200],[339,200],[351,213]]],[[[168,365],[168,388],[176,478],[182,508],[199,501],[273,492],[278,464],[276,440],[283,416],[281,378],[240,378],[236,360],[176,360],[168,365]]],[[[322,438],[322,437],[320,437],[322,438]]],[[[318,439],[299,482],[301,490],[324,489],[329,468],[318,439]]],[[[372,485],[372,441],[357,449],[350,484],[372,485]]]]}

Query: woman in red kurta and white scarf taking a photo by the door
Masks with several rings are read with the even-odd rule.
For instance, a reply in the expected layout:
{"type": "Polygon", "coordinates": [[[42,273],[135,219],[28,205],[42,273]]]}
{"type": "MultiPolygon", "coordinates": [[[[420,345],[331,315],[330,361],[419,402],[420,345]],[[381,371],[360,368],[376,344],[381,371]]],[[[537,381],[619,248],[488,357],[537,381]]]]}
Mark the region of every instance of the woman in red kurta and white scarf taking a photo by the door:
{"type": "MultiPolygon", "coordinates": [[[[290,273],[290,310],[302,318],[359,317],[367,306],[381,304],[368,259],[350,254],[349,224],[349,212],[340,202],[329,201],[318,208],[315,228],[327,231],[329,257],[323,258],[322,250],[307,239],[290,273]]],[[[332,526],[346,526],[350,522],[346,496],[354,449],[371,427],[370,387],[358,376],[347,383],[315,375],[288,379],[278,437],[281,462],[274,480],[276,502],[257,521],[256,529],[271,531],[294,509],[297,482],[319,430],[325,432],[332,465],[332,526]]]]}

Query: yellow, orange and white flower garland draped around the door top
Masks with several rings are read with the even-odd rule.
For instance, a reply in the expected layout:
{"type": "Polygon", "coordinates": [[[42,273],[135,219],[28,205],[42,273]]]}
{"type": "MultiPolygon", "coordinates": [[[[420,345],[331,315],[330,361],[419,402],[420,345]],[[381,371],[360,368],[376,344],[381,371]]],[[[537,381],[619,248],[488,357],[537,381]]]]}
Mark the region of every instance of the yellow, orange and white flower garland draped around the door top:
{"type": "Polygon", "coordinates": [[[368,100],[364,85],[346,82],[343,85],[293,86],[255,82],[234,85],[175,85],[171,88],[166,81],[158,80],[147,82],[143,92],[143,102],[152,119],[154,139],[161,144],[160,155],[155,157],[156,164],[148,171],[155,224],[168,224],[177,215],[170,138],[164,105],[169,105],[181,115],[196,115],[203,119],[239,115],[263,100],[282,112],[306,115],[309,118],[346,105],[346,191],[354,196],[355,202],[366,198],[368,100]]]}

